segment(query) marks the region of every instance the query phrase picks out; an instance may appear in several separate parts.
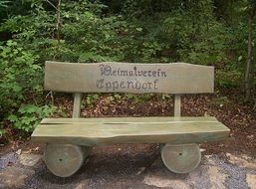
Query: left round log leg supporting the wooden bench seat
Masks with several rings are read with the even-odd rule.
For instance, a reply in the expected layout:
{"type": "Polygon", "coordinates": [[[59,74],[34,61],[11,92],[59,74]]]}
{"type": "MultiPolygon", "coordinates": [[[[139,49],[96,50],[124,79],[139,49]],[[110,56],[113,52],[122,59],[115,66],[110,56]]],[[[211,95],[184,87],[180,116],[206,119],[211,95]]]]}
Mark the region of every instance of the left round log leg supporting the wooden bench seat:
{"type": "Polygon", "coordinates": [[[46,166],[56,176],[71,176],[83,165],[90,148],[73,144],[47,144],[44,152],[46,166]]]}

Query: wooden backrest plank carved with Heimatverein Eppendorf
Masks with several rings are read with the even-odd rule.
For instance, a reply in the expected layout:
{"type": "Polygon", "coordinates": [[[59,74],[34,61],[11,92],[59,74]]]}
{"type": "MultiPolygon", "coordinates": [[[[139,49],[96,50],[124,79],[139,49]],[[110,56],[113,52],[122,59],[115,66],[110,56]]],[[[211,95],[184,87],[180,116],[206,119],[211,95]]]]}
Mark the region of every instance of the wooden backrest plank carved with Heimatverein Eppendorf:
{"type": "Polygon", "coordinates": [[[214,68],[172,64],[46,62],[45,90],[67,93],[213,93],[214,68]]]}

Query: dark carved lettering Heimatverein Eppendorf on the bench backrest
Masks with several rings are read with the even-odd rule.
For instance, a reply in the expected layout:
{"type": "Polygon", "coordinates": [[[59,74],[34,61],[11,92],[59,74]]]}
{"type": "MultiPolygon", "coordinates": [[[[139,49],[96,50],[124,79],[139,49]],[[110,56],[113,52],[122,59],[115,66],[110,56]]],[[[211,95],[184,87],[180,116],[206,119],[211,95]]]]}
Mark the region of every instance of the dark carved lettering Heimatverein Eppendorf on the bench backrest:
{"type": "Polygon", "coordinates": [[[99,66],[99,71],[101,78],[97,80],[96,87],[107,92],[126,89],[157,91],[160,79],[167,77],[166,72],[161,69],[139,70],[136,66],[122,69],[102,64],[99,66]]]}

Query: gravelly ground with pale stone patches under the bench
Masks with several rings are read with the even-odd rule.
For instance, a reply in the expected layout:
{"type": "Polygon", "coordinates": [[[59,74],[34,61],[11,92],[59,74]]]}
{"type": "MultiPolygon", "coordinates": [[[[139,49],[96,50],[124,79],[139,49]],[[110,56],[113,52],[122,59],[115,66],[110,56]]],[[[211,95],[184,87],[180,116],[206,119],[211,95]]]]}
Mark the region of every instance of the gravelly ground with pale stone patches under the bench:
{"type": "Polygon", "coordinates": [[[77,173],[60,178],[46,168],[44,146],[24,147],[0,157],[1,189],[254,189],[256,184],[256,161],[249,156],[204,151],[198,168],[174,174],[161,162],[157,144],[98,146],[77,173]]]}

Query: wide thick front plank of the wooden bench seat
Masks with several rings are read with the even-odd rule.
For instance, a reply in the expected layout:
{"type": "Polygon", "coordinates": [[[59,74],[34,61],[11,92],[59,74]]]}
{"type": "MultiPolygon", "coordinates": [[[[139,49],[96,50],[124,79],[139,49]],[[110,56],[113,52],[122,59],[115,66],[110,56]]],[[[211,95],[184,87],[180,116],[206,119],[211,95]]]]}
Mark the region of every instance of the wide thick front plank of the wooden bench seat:
{"type": "Polygon", "coordinates": [[[102,145],[111,143],[197,143],[228,137],[220,122],[40,124],[35,142],[102,145]]]}

